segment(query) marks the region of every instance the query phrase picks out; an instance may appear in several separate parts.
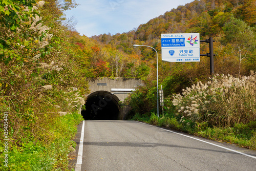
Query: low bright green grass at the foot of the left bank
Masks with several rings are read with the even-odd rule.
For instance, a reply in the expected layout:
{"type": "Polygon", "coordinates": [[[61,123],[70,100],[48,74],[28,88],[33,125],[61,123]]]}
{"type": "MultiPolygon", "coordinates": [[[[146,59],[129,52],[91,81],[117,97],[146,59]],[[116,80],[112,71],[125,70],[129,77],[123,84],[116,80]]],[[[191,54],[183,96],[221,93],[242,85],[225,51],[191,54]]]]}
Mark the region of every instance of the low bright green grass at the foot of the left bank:
{"type": "MultiPolygon", "coordinates": [[[[49,143],[27,135],[20,141],[20,146],[17,143],[9,144],[8,167],[1,164],[0,170],[69,170],[68,154],[71,147],[76,145],[72,139],[77,133],[76,125],[81,120],[82,116],[78,113],[56,118],[53,124],[49,124],[48,132],[51,133],[49,143]]],[[[3,146],[2,142],[1,147],[3,146]]],[[[3,159],[2,148],[0,152],[3,159]]]]}

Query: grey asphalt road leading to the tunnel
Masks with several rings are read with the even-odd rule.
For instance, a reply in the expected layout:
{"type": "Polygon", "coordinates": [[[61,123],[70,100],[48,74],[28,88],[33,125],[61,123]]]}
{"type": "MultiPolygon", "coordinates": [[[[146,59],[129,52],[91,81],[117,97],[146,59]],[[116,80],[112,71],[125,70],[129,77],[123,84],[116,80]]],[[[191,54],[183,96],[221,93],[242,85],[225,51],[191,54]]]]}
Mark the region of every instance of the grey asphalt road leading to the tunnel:
{"type": "Polygon", "coordinates": [[[76,170],[256,170],[256,151],[227,143],[137,121],[84,121],[84,133],[81,127],[76,170]]]}

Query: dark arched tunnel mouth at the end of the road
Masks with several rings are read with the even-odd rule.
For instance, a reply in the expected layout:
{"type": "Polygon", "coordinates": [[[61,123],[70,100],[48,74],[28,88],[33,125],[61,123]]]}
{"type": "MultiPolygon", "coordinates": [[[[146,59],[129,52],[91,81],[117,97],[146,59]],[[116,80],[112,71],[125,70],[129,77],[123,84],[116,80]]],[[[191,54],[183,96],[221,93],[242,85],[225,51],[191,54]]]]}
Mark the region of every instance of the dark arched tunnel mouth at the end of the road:
{"type": "Polygon", "coordinates": [[[107,91],[90,94],[86,101],[86,110],[81,114],[84,120],[120,120],[119,99],[107,91]]]}

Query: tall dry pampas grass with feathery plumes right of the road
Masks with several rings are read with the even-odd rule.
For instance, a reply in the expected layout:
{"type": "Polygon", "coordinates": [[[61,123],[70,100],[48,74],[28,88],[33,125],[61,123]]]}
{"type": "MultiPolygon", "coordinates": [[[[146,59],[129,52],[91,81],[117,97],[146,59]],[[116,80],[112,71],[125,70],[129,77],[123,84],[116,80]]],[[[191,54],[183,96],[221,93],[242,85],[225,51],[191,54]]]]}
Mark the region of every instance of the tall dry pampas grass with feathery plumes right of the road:
{"type": "Polygon", "coordinates": [[[256,119],[256,74],[236,78],[215,75],[173,95],[176,115],[210,125],[232,126],[256,119]]]}

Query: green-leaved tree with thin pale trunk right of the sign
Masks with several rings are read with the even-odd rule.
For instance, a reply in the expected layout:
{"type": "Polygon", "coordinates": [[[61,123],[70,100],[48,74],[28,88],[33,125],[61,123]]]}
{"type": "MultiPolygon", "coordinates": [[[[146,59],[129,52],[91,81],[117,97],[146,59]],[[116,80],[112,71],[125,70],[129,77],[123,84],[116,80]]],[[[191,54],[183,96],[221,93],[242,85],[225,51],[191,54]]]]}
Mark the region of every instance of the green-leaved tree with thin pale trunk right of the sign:
{"type": "Polygon", "coordinates": [[[241,72],[241,61],[246,58],[247,53],[256,45],[255,33],[243,20],[234,16],[230,17],[228,23],[223,27],[224,41],[233,45],[239,55],[239,75],[241,72]]]}

